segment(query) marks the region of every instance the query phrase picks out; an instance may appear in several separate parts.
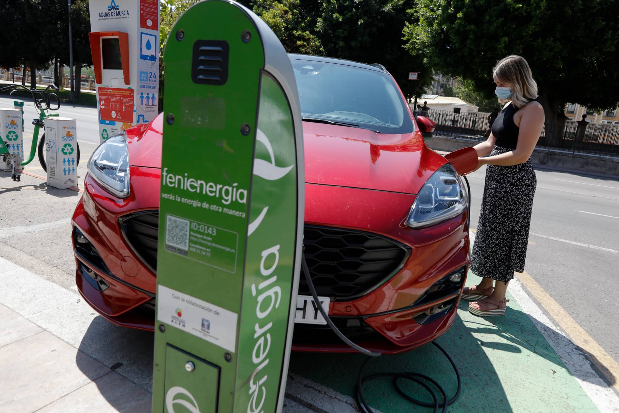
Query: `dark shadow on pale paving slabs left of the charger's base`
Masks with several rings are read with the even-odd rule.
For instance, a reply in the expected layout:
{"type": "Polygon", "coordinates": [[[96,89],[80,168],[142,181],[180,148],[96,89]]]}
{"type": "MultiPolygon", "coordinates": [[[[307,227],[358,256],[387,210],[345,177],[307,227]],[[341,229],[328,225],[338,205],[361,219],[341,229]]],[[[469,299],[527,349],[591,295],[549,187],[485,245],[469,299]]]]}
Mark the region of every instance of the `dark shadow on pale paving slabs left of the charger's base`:
{"type": "MultiPolygon", "coordinates": [[[[141,412],[147,405],[150,412],[153,346],[154,337],[150,331],[118,327],[102,316],[93,318],[90,323],[79,350],[126,379],[115,386],[110,386],[109,380],[94,382],[103,398],[117,411],[141,412]]],[[[76,363],[80,370],[88,368],[80,357],[76,357],[76,363]]]]}

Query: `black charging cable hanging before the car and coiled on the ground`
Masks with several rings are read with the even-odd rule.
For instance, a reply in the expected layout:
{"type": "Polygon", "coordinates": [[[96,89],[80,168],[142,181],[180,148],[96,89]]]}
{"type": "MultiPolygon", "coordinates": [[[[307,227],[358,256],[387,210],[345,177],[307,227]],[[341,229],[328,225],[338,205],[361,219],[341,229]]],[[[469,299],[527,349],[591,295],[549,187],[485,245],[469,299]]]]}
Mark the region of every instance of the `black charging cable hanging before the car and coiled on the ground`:
{"type": "MultiPolygon", "coordinates": [[[[468,185],[468,181],[467,181],[467,185],[468,185]]],[[[469,205],[470,205],[470,197],[469,197],[469,205]]],[[[312,282],[311,276],[309,276],[308,264],[305,261],[305,248],[303,248],[303,253],[301,254],[301,266],[303,267],[303,272],[305,272],[305,280],[308,283],[309,291],[311,292],[311,296],[314,298],[314,302],[320,303],[320,300],[318,299],[318,294],[316,293],[316,289],[314,288],[314,283],[312,282]]],[[[428,377],[426,375],[422,375],[420,373],[412,373],[412,372],[409,372],[409,373],[378,373],[378,374],[371,375],[371,376],[368,376],[366,378],[363,378],[363,370],[365,369],[365,367],[368,364],[368,362],[372,359],[372,357],[378,357],[379,355],[381,355],[381,353],[380,352],[373,352],[373,351],[368,350],[368,349],[364,349],[363,347],[358,346],[357,344],[355,344],[352,341],[350,341],[350,339],[348,339],[348,337],[344,336],[344,334],[341,331],[339,331],[339,329],[335,326],[333,321],[331,321],[331,318],[329,318],[329,315],[327,314],[327,311],[324,310],[324,308],[322,308],[322,305],[318,305],[318,310],[320,311],[320,313],[324,317],[324,320],[327,321],[327,324],[329,324],[329,327],[332,329],[332,331],[335,333],[335,335],[337,335],[337,337],[340,338],[340,340],[342,340],[345,344],[347,344],[348,346],[350,346],[353,349],[357,350],[361,354],[365,354],[365,355],[370,356],[370,357],[368,357],[368,359],[365,360],[365,362],[363,362],[363,365],[361,365],[361,370],[359,371],[359,376],[358,376],[358,379],[357,379],[357,389],[356,389],[356,393],[357,393],[357,406],[359,407],[361,412],[363,412],[363,413],[373,413],[371,407],[368,405],[368,403],[365,401],[365,398],[363,397],[363,385],[365,383],[367,383],[368,381],[376,380],[378,378],[383,378],[383,377],[391,377],[392,378],[393,386],[396,388],[397,392],[400,395],[402,395],[402,397],[404,397],[405,399],[409,400],[410,402],[412,402],[414,404],[418,404],[419,406],[434,407],[434,412],[435,413],[438,413],[438,409],[439,408],[442,408],[441,412],[446,413],[447,412],[447,406],[449,406],[450,404],[454,403],[456,401],[456,399],[460,396],[461,379],[460,379],[460,373],[458,372],[456,364],[454,363],[454,360],[452,360],[451,357],[449,357],[449,354],[447,354],[447,352],[443,349],[443,347],[439,346],[435,341],[433,341],[432,344],[434,344],[434,346],[436,346],[439,350],[441,350],[441,352],[443,352],[445,357],[447,357],[447,359],[449,360],[449,363],[451,363],[451,366],[454,368],[454,372],[456,373],[456,378],[457,378],[458,386],[457,386],[456,394],[454,394],[454,396],[451,399],[449,399],[449,400],[447,399],[447,393],[444,391],[444,389],[443,389],[443,387],[441,387],[441,385],[439,385],[432,378],[430,378],[430,377],[428,377]],[[400,387],[399,380],[409,380],[409,381],[412,381],[413,383],[417,383],[418,385],[422,386],[423,388],[426,389],[426,391],[428,391],[428,393],[430,393],[430,395],[431,395],[431,397],[433,399],[433,402],[428,403],[428,402],[425,402],[425,401],[421,401],[421,400],[415,399],[412,396],[409,396],[409,394],[407,394],[404,391],[404,389],[402,389],[400,387]],[[439,396],[433,391],[433,389],[430,386],[428,386],[426,384],[426,382],[431,383],[432,385],[434,385],[438,389],[439,393],[442,396],[443,402],[439,402],[439,396]]]]}

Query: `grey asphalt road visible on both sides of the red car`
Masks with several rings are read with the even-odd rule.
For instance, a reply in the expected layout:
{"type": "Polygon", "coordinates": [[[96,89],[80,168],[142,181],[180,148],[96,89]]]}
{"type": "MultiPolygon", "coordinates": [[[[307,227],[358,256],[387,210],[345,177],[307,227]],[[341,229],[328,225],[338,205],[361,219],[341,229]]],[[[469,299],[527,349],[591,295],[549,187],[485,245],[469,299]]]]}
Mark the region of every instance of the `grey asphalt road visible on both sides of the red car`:
{"type": "MultiPolygon", "coordinates": [[[[0,107],[12,107],[12,98],[0,97],[0,107]]],[[[33,103],[24,100],[25,136],[32,136],[30,120],[38,117],[33,103]]],[[[97,110],[95,108],[63,105],[62,116],[77,119],[77,140],[81,149],[78,168],[80,187],[85,175],[85,165],[98,145],[97,110]]],[[[27,172],[45,175],[35,159],[25,168],[27,172]]],[[[485,168],[469,176],[472,191],[471,227],[477,227],[478,213],[483,194],[485,168]]],[[[7,179],[7,178],[2,178],[7,179]]],[[[28,186],[40,189],[42,185],[28,186]]],[[[4,186],[4,185],[3,185],[4,186]]],[[[3,199],[19,202],[19,185],[9,189],[3,199]]],[[[35,214],[22,212],[15,216],[0,215],[0,229],[19,225],[32,225],[68,219],[72,208],[58,197],[70,197],[77,202],[78,193],[65,191],[52,197],[41,195],[45,211],[35,214]],[[56,198],[54,200],[54,198],[56,198]],[[62,211],[55,206],[63,205],[62,211]]],[[[38,198],[37,198],[38,199],[38,198]]],[[[66,201],[66,200],[65,200],[66,201]]],[[[72,203],[74,205],[74,203],[72,203]]],[[[0,231],[1,233],[2,231],[0,231]]],[[[548,294],[568,311],[587,333],[608,354],[619,362],[619,311],[617,303],[619,285],[615,282],[615,269],[619,268],[619,180],[595,178],[586,175],[537,170],[537,191],[530,228],[526,271],[548,294]]],[[[26,233],[21,237],[4,237],[4,243],[14,246],[15,254],[26,253],[57,267],[59,271],[48,279],[63,287],[73,284],[74,259],[67,227],[50,228],[41,233],[26,233]],[[59,255],[51,244],[63,245],[59,255]]],[[[20,259],[20,265],[27,259],[20,259]]]]}

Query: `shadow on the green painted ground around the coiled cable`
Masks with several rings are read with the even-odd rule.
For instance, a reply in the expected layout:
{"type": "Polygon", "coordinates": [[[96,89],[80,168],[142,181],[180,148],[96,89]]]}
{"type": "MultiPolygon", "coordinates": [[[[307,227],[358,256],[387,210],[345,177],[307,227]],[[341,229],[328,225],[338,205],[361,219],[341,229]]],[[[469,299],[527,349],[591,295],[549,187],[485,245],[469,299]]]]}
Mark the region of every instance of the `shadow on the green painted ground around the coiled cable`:
{"type": "MultiPolygon", "coordinates": [[[[491,411],[512,412],[501,381],[496,380],[495,366],[486,357],[477,339],[470,334],[460,317],[456,317],[452,328],[436,342],[454,359],[462,378],[461,395],[455,404],[449,406],[449,412],[485,411],[483,406],[491,406],[491,411]]],[[[511,344],[496,347],[506,352],[520,352],[511,344]]],[[[352,354],[293,353],[290,359],[290,372],[355,398],[359,370],[365,359],[363,355],[352,354]]],[[[384,372],[415,372],[428,375],[443,386],[448,398],[456,393],[457,380],[451,364],[431,344],[404,354],[382,355],[378,359],[371,360],[363,375],[384,372]]],[[[413,398],[432,401],[430,394],[418,385],[405,383],[402,388],[413,398]]],[[[439,391],[437,389],[433,391],[440,398],[439,391]]],[[[366,383],[363,393],[370,406],[383,413],[431,411],[429,408],[410,404],[402,398],[392,386],[391,378],[366,383]]]]}

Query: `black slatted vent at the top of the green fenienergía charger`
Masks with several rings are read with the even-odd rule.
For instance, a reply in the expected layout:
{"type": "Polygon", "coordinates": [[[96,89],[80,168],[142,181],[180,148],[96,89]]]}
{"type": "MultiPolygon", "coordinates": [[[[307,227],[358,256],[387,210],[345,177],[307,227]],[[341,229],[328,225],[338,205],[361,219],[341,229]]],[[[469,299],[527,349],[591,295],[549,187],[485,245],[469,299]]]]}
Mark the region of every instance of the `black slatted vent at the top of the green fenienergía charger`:
{"type": "Polygon", "coordinates": [[[196,40],[191,58],[191,80],[220,86],[228,81],[230,46],[225,40],[196,40]]]}

